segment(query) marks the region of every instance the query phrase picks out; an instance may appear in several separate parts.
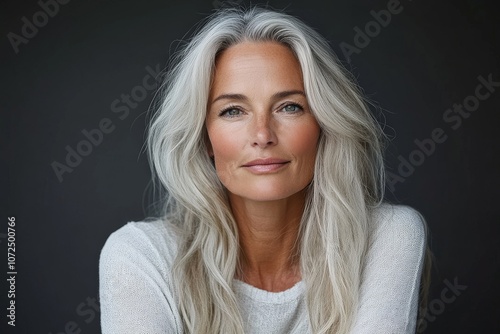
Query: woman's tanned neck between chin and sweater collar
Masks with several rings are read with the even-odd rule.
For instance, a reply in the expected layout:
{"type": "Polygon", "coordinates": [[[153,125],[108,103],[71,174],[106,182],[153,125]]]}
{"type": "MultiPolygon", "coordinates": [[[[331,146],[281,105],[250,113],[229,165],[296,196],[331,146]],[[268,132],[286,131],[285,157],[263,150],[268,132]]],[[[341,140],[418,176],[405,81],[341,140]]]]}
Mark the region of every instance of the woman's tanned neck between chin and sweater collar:
{"type": "Polygon", "coordinates": [[[230,194],[241,248],[238,279],[267,291],[283,291],[300,281],[297,241],[305,194],[270,202],[230,194]]]}

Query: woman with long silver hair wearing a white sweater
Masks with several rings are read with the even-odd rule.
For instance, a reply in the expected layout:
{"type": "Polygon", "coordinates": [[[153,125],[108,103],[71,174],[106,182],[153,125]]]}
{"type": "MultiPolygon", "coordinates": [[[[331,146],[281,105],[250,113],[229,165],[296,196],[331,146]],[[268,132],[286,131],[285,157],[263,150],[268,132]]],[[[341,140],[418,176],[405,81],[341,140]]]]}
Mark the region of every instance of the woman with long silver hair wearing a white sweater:
{"type": "Polygon", "coordinates": [[[103,333],[414,333],[423,219],[382,204],[382,132],[327,42],[221,10],[166,78],[165,211],[106,242],[103,333]]]}

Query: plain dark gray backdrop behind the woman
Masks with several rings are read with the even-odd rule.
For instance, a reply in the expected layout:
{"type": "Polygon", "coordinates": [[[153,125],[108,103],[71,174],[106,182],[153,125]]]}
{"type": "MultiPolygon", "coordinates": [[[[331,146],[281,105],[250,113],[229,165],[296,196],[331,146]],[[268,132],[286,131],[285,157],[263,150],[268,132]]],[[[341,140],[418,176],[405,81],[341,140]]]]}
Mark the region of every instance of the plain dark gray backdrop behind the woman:
{"type": "MultiPolygon", "coordinates": [[[[443,120],[453,104],[474,95],[479,76],[500,81],[499,11],[486,1],[402,0],[402,11],[349,62],[340,44],[354,45],[354,28],[364,30],[370,11],[386,9],[388,1],[268,3],[327,37],[383,110],[393,138],[390,171],[398,173],[398,157],[409,159],[416,139],[443,129],[447,140],[387,198],[418,209],[430,228],[436,262],[426,333],[500,332],[500,87],[456,130],[443,120]],[[454,280],[466,288],[445,303],[441,293],[454,280]]],[[[99,312],[89,305],[98,298],[99,252],[112,231],[148,215],[142,148],[154,92],[126,117],[111,104],[140,90],[145,68],[163,68],[176,41],[217,6],[73,0],[16,53],[8,33],[21,35],[22,18],[33,22],[41,7],[35,0],[2,4],[1,328],[7,328],[9,216],[17,222],[18,270],[17,326],[2,333],[100,332],[99,312]],[[51,164],[65,163],[65,147],[75,149],[82,130],[105,118],[114,130],[60,182],[51,164]]]]}

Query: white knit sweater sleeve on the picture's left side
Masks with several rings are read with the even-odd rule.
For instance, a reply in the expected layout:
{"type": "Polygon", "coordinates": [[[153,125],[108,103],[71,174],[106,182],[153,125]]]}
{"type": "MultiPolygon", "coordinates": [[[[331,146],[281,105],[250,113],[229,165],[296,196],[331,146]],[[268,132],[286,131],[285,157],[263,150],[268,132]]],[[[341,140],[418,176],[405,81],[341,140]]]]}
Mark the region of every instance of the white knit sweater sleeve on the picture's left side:
{"type": "Polygon", "coordinates": [[[99,261],[103,334],[181,333],[168,276],[172,247],[161,234],[153,223],[129,223],[106,241],[99,261]]]}

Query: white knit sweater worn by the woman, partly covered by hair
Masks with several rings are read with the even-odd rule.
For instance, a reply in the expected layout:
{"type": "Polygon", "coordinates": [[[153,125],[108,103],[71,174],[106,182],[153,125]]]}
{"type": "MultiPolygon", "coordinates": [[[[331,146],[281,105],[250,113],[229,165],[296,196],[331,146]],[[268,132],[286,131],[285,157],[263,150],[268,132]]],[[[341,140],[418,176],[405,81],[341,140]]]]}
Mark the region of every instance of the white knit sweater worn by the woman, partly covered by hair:
{"type": "MultiPolygon", "coordinates": [[[[103,334],[183,332],[171,278],[176,247],[161,221],[131,222],[111,234],[99,264],[103,334]]],[[[418,212],[387,204],[376,210],[351,333],[415,333],[424,253],[418,212]]],[[[238,280],[233,287],[246,333],[311,333],[303,282],[282,292],[238,280]]]]}

